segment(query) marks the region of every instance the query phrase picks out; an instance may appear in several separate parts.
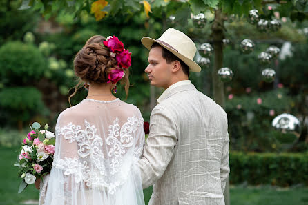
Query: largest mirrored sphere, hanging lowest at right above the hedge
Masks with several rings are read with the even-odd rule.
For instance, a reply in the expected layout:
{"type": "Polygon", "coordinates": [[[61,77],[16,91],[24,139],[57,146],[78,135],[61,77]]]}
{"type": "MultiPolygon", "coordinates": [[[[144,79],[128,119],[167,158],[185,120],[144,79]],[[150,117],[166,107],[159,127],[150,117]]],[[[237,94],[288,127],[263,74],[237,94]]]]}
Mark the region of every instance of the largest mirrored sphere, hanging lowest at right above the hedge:
{"type": "Polygon", "coordinates": [[[271,125],[281,133],[293,133],[300,135],[300,121],[291,114],[283,113],[273,119],[271,125]]]}

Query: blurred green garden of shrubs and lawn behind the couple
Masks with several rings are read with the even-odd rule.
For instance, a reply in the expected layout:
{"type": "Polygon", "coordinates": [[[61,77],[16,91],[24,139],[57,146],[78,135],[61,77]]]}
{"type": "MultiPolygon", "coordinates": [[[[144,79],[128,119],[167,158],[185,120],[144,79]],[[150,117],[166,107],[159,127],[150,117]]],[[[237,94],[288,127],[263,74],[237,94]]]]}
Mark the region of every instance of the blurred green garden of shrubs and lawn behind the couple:
{"type": "MultiPolygon", "coordinates": [[[[59,9],[61,3],[57,2],[66,1],[33,2],[32,6],[28,6],[30,1],[20,0],[0,3],[0,204],[6,205],[25,204],[39,197],[32,187],[17,194],[19,179],[13,166],[17,150],[29,124],[48,123],[52,130],[59,113],[70,106],[70,88],[78,80],[73,71],[74,55],[89,37],[115,35],[132,52],[129,95],[126,99],[120,88],[117,97],[135,104],[144,121],[149,121],[153,101],[163,90],[149,86],[144,72],[148,51],[140,39],[157,39],[169,27],[185,32],[196,46],[213,43],[215,39],[212,7],[217,5],[205,3],[203,10],[198,10],[191,3],[196,1],[151,1],[152,13],[148,14],[139,1],[124,3],[117,11],[113,10],[116,4],[110,3],[110,15],[97,21],[90,10],[94,1],[75,1],[74,8],[64,4],[65,9],[59,9]],[[80,2],[88,5],[77,7],[80,2]],[[204,12],[208,19],[204,28],[195,27],[191,12],[204,12]],[[176,21],[170,20],[171,15],[176,21]]],[[[299,1],[286,1],[285,6],[276,1],[262,2],[249,1],[249,6],[243,1],[218,3],[218,7],[226,8],[224,39],[230,41],[223,44],[221,63],[234,72],[232,81],[222,84],[231,140],[231,204],[308,204],[307,124],[302,123],[304,131],[299,136],[280,133],[271,126],[273,118],[282,113],[290,113],[300,121],[308,115],[308,3],[300,1],[306,2],[306,10],[302,10],[296,4],[299,1]],[[243,10],[244,6],[247,9],[243,10]],[[248,23],[249,8],[257,6],[264,17],[279,19],[282,28],[277,32],[260,32],[248,23]],[[247,38],[256,46],[251,54],[244,55],[240,42],[247,38]],[[258,54],[271,45],[284,48],[284,52],[268,65],[276,70],[276,79],[266,83],[258,54]]],[[[190,79],[198,90],[215,99],[215,55],[209,59],[211,63],[203,66],[201,72],[191,73],[190,79]]],[[[78,104],[84,97],[86,90],[81,88],[72,104],[78,104]]],[[[151,188],[144,193],[148,201],[151,188]]]]}

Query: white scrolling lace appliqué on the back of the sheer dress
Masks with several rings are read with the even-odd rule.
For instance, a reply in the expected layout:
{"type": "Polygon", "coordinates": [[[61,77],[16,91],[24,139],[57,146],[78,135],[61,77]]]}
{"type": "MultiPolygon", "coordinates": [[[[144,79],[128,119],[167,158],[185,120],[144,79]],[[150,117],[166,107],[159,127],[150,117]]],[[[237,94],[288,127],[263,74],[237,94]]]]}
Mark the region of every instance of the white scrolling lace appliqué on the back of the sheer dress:
{"type": "MultiPolygon", "coordinates": [[[[108,145],[108,156],[102,153],[103,140],[97,135],[97,128],[88,121],[84,121],[84,129],[81,126],[69,123],[66,126],[57,126],[57,136],[63,135],[69,143],[77,142],[79,156],[74,158],[55,157],[53,166],[64,170],[64,175],[73,175],[75,183],[85,182],[87,186],[108,189],[113,194],[117,186],[123,184],[128,173],[120,173],[117,180],[110,180],[108,173],[115,175],[122,168],[123,155],[128,148],[133,147],[134,137],[138,126],[142,126],[143,119],[128,117],[122,127],[119,126],[119,119],[113,121],[109,126],[109,134],[106,139],[108,145]],[[105,157],[108,160],[105,160],[105,157]],[[106,164],[108,162],[108,164],[106,164]],[[94,167],[94,169],[93,169],[94,167]],[[106,171],[108,169],[109,171],[106,171]]],[[[142,153],[142,148],[133,147],[133,155],[137,157],[142,153]]]]}

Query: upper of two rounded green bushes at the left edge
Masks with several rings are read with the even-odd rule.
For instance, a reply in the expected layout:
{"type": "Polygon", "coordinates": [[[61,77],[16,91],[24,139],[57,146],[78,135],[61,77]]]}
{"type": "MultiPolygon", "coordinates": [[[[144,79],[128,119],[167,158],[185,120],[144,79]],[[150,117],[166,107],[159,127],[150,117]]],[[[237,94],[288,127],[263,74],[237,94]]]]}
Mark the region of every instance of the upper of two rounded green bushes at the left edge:
{"type": "Polygon", "coordinates": [[[39,79],[46,64],[37,47],[12,41],[0,48],[0,67],[1,81],[21,85],[39,79]]]}

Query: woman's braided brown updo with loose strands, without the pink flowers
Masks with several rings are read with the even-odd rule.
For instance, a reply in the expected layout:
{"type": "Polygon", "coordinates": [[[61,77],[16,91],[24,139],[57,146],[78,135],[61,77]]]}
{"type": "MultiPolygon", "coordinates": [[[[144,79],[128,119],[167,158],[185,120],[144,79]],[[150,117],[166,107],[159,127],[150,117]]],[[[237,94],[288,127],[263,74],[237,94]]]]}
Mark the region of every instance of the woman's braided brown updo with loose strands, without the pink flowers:
{"type": "MultiPolygon", "coordinates": [[[[115,38],[117,39],[117,37],[115,38]]],[[[119,40],[117,39],[117,41],[119,40]]],[[[80,86],[83,83],[105,84],[116,83],[117,81],[119,81],[120,84],[124,84],[126,97],[128,96],[128,67],[131,66],[131,53],[129,53],[128,50],[125,50],[123,46],[122,52],[124,50],[127,56],[129,54],[129,66],[123,66],[123,64],[119,64],[119,62],[123,62],[122,53],[117,52],[117,50],[113,50],[114,52],[111,52],[111,49],[114,48],[108,48],[106,42],[108,43],[105,37],[95,35],[88,39],[84,47],[81,48],[79,52],[77,52],[77,55],[74,59],[74,69],[75,75],[79,77],[80,80],[79,83],[75,86],[75,91],[73,92],[73,94],[68,97],[68,101],[70,101],[70,98],[76,94],[77,90],[81,88],[80,86]],[[104,44],[106,44],[107,46],[104,46],[104,44]],[[118,59],[116,55],[119,55],[121,57],[118,59]],[[113,77],[113,73],[119,71],[124,72],[124,74],[122,74],[124,76],[122,76],[122,78],[115,79],[115,77],[113,77]]],[[[122,43],[121,41],[119,42],[122,43]]]]}

